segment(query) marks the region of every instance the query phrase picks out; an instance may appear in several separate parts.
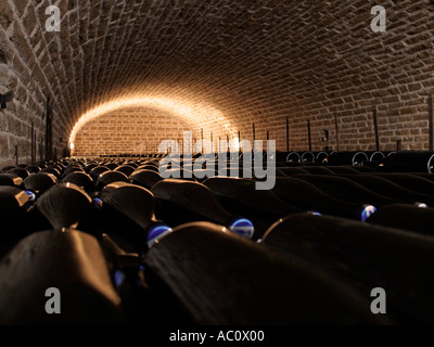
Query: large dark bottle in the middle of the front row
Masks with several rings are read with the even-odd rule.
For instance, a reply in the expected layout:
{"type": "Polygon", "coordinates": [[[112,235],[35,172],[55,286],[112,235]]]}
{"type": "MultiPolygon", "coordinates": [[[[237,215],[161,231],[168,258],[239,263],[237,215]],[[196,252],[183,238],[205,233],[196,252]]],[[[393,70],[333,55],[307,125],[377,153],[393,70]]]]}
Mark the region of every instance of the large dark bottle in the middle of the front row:
{"type": "Polygon", "coordinates": [[[183,224],[150,249],[150,295],[166,316],[171,297],[201,325],[385,323],[346,283],[225,230],[183,224]],[[170,296],[154,294],[163,286],[170,296]]]}

